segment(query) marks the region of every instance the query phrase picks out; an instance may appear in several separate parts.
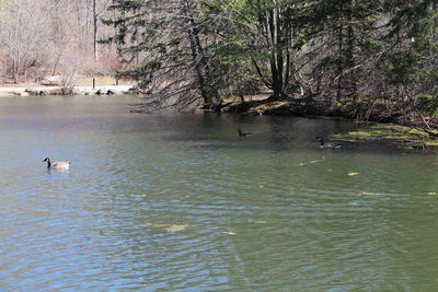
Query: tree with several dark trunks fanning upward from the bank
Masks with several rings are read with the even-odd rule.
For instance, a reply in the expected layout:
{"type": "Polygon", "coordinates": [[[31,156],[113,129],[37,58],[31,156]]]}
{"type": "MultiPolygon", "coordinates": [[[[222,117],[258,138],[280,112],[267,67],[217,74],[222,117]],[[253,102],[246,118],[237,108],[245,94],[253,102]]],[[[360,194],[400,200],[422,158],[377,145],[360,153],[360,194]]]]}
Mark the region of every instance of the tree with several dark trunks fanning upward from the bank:
{"type": "MultiPolygon", "coordinates": [[[[226,38],[229,43],[242,39],[242,48],[250,57],[258,80],[272,90],[272,98],[285,98],[293,87],[292,79],[298,72],[293,57],[303,45],[298,15],[306,3],[296,0],[237,0],[230,7],[238,35],[226,35],[226,38]]],[[[230,50],[233,52],[235,50],[230,50]]]]}

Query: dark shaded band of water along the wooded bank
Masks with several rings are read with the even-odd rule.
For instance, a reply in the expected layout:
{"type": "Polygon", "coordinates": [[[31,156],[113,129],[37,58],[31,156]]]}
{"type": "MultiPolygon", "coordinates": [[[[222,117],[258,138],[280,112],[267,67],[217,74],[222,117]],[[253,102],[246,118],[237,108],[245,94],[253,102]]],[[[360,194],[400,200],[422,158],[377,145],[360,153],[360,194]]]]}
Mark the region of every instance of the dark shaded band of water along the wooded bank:
{"type": "MultiPolygon", "coordinates": [[[[173,119],[172,117],[168,117],[173,119]]],[[[382,154],[433,154],[434,149],[418,151],[405,149],[390,140],[367,142],[342,142],[342,150],[319,149],[319,137],[353,131],[364,127],[339,119],[307,119],[298,117],[242,116],[242,115],[186,115],[185,122],[162,120],[166,130],[163,140],[169,142],[194,143],[195,148],[227,149],[246,148],[269,151],[325,151],[330,153],[369,152],[382,154]],[[170,127],[168,127],[170,126],[170,127]],[[252,133],[251,137],[239,137],[237,129],[252,133]]]]}

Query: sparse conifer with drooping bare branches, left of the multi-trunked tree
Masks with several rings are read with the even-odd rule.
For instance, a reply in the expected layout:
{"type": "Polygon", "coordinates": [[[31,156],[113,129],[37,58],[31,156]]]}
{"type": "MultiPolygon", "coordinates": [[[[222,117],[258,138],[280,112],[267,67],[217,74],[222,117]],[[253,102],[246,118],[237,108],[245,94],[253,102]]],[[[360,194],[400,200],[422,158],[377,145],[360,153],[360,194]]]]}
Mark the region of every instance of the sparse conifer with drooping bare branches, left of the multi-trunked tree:
{"type": "Polygon", "coordinates": [[[196,2],[116,0],[116,13],[104,20],[115,27],[106,43],[115,43],[120,57],[132,63],[120,75],[134,77],[150,96],[149,105],[215,107],[219,101],[210,72],[209,39],[198,20],[196,2]]]}

